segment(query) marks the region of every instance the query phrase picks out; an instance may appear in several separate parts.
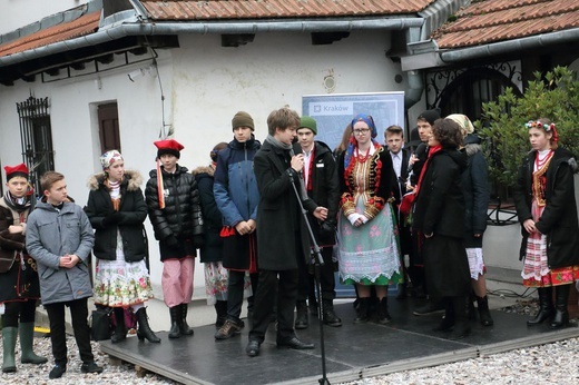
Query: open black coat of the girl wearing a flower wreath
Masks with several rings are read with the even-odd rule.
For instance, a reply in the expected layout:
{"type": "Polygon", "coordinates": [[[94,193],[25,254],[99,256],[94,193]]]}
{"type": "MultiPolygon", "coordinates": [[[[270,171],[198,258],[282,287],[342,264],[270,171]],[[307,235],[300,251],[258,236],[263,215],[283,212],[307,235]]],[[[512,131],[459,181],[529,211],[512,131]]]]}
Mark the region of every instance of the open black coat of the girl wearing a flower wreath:
{"type": "MultiPolygon", "coordinates": [[[[532,171],[537,151],[532,150],[519,168],[517,186],[513,190],[517,215],[521,225],[532,219],[532,171]]],[[[547,235],[547,258],[549,268],[579,265],[579,225],[575,200],[573,174],[577,162],[565,148],[555,150],[546,172],[546,207],[536,223],[537,229],[547,235]]],[[[528,233],[521,226],[522,243],[520,259],[527,254],[528,233]]]]}

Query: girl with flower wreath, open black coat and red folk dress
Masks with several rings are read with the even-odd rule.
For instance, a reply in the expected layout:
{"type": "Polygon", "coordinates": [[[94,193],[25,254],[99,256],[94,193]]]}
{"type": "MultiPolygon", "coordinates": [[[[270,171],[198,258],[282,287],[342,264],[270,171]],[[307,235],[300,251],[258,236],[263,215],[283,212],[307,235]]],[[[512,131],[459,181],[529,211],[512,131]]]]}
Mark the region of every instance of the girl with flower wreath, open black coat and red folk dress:
{"type": "Polygon", "coordinates": [[[557,128],[549,119],[529,121],[526,127],[532,150],[519,168],[513,196],[522,227],[523,285],[539,292],[539,313],[527,325],[552,318],[551,328],[560,328],[569,323],[569,289],[579,278],[577,162],[571,152],[558,146],[557,128]]]}

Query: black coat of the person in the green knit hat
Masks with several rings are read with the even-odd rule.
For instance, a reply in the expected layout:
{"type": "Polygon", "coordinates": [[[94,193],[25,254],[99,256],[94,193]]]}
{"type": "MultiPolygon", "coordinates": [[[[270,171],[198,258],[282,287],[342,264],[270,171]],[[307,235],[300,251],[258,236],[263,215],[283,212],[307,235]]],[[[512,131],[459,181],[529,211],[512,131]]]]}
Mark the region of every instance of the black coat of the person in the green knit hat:
{"type": "Polygon", "coordinates": [[[315,141],[314,162],[311,170],[312,189],[307,196],[316,204],[327,208],[327,219],[324,230],[322,223],[312,214],[307,215],[310,226],[318,246],[335,244],[335,228],[337,224],[337,205],[340,204],[340,186],[337,167],[332,150],[323,141],[315,141]]]}

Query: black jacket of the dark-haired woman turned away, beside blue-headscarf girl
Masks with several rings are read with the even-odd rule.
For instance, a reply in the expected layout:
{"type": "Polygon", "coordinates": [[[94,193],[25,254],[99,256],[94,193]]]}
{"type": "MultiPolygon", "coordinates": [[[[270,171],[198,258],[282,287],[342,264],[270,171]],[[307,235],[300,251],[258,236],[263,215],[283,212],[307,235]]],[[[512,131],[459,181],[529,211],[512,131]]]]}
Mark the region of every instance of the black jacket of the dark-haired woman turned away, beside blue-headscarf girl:
{"type": "Polygon", "coordinates": [[[467,155],[442,149],[432,155],[415,198],[412,228],[425,235],[464,236],[464,196],[461,175],[467,155]]]}

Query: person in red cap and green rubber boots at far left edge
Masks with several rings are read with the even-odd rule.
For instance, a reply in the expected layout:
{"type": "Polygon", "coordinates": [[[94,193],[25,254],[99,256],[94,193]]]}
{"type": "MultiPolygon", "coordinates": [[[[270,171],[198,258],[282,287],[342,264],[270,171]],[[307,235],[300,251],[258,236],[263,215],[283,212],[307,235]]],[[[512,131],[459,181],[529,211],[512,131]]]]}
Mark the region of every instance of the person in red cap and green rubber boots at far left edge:
{"type": "Polygon", "coordinates": [[[16,339],[20,332],[22,364],[45,364],[32,352],[35,315],[40,286],[36,261],[24,248],[26,221],[35,205],[24,164],[6,166],[7,191],[0,198],[0,304],[2,314],[2,372],[16,372],[16,339]],[[19,324],[20,318],[20,324],[19,324]]]}

